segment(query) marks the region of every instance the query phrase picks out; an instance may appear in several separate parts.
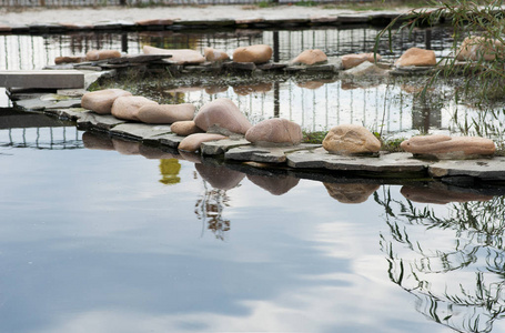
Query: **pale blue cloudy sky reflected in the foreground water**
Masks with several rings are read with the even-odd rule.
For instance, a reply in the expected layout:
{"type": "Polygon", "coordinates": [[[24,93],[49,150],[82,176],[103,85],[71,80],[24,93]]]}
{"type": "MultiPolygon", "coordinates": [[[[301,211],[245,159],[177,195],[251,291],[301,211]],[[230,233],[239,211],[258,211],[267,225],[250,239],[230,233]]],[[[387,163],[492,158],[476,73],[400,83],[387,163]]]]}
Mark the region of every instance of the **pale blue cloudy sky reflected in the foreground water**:
{"type": "MultiPolygon", "coordinates": [[[[452,305],[441,325],[431,307],[455,302],[438,300],[447,284],[463,297],[454,281],[469,293],[476,274],[493,280],[484,290],[503,283],[486,269],[486,251],[503,258],[499,231],[482,243],[475,225],[412,223],[400,186],[345,204],[331,184],[287,179],[274,195],[256,185],[269,179],[184,160],[166,167],[123,144],[128,154],[1,149],[1,331],[451,332],[445,325],[475,320],[469,310],[484,329],[499,312],[501,299],[459,316],[452,305]],[[170,170],[180,182],[162,181],[170,170]],[[481,249],[464,270],[415,264],[465,252],[463,243],[481,249]]],[[[459,205],[413,204],[440,219],[459,205]]]]}

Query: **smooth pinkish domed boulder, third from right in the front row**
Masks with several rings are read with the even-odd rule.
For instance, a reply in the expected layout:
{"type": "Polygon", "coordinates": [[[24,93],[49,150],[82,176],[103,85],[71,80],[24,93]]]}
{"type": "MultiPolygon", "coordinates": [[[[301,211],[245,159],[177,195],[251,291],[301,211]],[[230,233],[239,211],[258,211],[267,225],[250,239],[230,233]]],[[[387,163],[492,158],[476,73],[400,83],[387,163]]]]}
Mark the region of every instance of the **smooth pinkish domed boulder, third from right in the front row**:
{"type": "Polygon", "coordinates": [[[245,133],[245,140],[262,147],[296,145],[302,139],[297,123],[279,118],[263,120],[245,133]]]}

